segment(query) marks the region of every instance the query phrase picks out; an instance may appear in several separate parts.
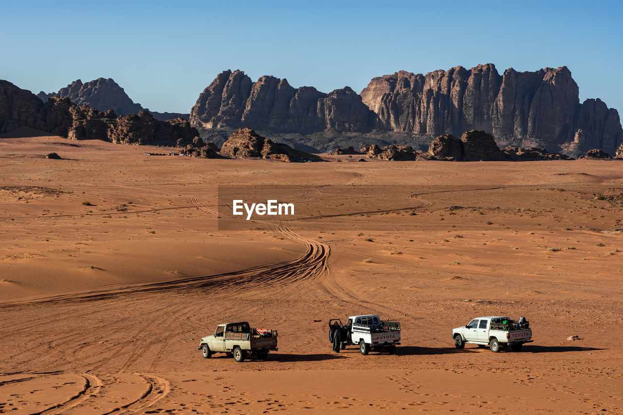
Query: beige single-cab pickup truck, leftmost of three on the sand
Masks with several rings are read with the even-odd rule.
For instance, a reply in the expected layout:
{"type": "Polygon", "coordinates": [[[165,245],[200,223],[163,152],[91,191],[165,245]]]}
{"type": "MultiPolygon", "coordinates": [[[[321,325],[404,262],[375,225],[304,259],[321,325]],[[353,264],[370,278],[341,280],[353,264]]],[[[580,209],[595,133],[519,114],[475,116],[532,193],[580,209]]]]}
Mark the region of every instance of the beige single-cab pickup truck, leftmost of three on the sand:
{"type": "Polygon", "coordinates": [[[277,351],[277,330],[252,328],[247,322],[219,324],[214,334],[201,339],[199,350],[205,359],[214,353],[234,356],[244,361],[247,355],[265,359],[270,350],[277,351]]]}

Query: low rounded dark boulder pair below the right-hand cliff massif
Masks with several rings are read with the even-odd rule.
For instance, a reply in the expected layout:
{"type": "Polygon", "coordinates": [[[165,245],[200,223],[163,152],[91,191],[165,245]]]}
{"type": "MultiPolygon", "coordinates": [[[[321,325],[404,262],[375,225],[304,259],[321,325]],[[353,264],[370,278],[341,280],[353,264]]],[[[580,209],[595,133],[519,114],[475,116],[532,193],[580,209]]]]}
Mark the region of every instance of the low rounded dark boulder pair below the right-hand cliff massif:
{"type": "Polygon", "coordinates": [[[430,143],[429,154],[447,161],[503,161],[504,155],[493,136],[485,131],[472,130],[461,138],[442,135],[430,143]]]}

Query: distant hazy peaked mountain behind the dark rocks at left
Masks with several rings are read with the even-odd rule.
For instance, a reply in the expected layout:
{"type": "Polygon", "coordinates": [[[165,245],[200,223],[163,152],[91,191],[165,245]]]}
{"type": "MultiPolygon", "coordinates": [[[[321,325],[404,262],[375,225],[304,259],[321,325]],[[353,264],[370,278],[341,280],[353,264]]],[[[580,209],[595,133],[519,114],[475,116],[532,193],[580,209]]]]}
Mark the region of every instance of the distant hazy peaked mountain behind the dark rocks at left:
{"type": "Polygon", "coordinates": [[[113,110],[119,115],[138,113],[145,109],[140,103],[134,103],[125,90],[117,82],[108,78],[98,78],[86,83],[80,79],[60,88],[59,92],[45,93],[39,92],[37,97],[44,102],[52,96],[69,97],[77,105],[86,104],[89,107],[100,111],[113,110]]]}

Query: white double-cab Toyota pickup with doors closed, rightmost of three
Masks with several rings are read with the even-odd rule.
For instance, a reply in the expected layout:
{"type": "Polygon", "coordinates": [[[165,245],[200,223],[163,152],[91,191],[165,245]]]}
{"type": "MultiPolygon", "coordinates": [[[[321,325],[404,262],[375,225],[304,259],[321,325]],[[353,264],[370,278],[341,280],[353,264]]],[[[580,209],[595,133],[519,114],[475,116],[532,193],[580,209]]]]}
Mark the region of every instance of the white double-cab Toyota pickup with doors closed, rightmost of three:
{"type": "Polygon", "coordinates": [[[488,346],[494,353],[500,351],[500,347],[508,346],[513,351],[520,351],[523,343],[532,341],[532,330],[528,324],[523,317],[520,323],[508,317],[478,317],[468,325],[452,330],[452,338],[457,349],[464,348],[465,343],[473,343],[479,347],[488,346]]]}

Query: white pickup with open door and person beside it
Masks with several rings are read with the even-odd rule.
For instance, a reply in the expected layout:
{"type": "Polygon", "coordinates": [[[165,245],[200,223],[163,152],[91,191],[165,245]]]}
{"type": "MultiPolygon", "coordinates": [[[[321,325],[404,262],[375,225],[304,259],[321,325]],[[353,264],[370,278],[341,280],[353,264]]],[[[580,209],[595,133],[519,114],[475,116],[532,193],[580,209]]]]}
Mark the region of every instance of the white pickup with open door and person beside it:
{"type": "Polygon", "coordinates": [[[370,350],[394,353],[400,344],[400,323],[381,320],[378,315],[354,315],[346,325],[339,318],[329,320],[329,341],[333,343],[336,330],[340,330],[340,350],[358,345],[362,355],[370,350]]]}

